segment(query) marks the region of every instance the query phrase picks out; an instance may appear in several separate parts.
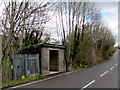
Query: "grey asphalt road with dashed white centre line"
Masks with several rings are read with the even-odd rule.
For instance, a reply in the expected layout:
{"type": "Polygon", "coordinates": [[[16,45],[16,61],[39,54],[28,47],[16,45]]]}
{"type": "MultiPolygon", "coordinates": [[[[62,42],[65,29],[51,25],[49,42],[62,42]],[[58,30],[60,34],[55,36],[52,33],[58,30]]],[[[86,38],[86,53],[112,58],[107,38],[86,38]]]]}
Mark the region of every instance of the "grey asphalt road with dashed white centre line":
{"type": "Polygon", "coordinates": [[[105,63],[15,88],[118,88],[118,50],[105,63]]]}

